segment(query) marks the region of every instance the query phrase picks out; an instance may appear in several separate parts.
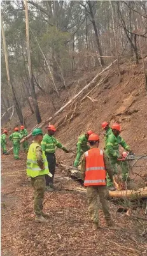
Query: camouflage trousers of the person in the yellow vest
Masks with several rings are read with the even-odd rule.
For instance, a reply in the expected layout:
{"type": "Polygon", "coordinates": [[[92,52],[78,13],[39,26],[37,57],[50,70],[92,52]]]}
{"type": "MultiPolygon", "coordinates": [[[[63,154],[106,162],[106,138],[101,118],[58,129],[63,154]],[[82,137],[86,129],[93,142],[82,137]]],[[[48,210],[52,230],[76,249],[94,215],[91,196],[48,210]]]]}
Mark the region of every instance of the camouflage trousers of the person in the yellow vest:
{"type": "Polygon", "coordinates": [[[43,199],[45,195],[45,175],[31,177],[31,184],[34,188],[34,212],[36,216],[40,216],[43,211],[43,199]]]}

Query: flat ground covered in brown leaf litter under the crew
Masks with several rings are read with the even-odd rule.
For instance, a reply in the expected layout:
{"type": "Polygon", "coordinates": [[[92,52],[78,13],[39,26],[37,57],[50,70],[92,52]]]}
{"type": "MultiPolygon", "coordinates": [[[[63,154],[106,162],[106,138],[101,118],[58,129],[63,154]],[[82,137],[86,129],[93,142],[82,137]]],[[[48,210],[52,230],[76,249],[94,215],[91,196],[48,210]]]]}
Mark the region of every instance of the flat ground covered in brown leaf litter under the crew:
{"type": "MultiPolygon", "coordinates": [[[[2,256],[142,256],[147,253],[146,222],[117,213],[109,202],[114,226],[106,226],[99,204],[101,229],[92,230],[87,199],[81,184],[57,168],[56,192],[46,192],[44,208],[49,222],[34,222],[33,190],[26,176],[26,155],[14,160],[2,156],[1,164],[1,255],[2,256]],[[79,190],[78,190],[79,189],[79,190]]],[[[143,210],[139,209],[139,216],[143,210]]]]}

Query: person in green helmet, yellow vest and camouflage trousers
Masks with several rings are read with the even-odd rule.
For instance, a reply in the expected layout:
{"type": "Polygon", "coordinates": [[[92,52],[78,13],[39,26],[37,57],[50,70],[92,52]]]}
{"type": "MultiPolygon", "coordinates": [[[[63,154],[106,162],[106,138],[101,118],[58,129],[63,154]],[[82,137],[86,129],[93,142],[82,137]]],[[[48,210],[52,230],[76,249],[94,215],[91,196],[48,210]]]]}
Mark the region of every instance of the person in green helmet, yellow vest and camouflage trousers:
{"type": "Polygon", "coordinates": [[[50,175],[48,170],[48,162],[45,153],[41,149],[41,140],[43,139],[43,132],[40,128],[32,131],[34,141],[29,147],[27,154],[27,176],[31,177],[31,184],[34,188],[34,212],[35,220],[41,223],[47,223],[45,217],[48,214],[43,213],[43,199],[45,195],[45,175],[50,175]]]}

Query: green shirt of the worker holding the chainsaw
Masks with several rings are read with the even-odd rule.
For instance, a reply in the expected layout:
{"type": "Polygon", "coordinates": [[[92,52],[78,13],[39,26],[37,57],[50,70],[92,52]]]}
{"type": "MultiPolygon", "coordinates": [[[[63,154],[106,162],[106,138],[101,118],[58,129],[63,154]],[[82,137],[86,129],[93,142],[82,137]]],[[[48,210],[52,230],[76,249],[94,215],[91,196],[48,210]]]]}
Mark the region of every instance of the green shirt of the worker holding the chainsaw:
{"type": "Polygon", "coordinates": [[[116,157],[118,158],[120,156],[119,153],[119,145],[121,145],[125,150],[129,151],[130,147],[127,145],[125,140],[118,135],[118,137],[115,137],[114,133],[112,132],[111,135],[109,135],[107,140],[107,146],[106,146],[106,153],[109,157],[116,157]]]}

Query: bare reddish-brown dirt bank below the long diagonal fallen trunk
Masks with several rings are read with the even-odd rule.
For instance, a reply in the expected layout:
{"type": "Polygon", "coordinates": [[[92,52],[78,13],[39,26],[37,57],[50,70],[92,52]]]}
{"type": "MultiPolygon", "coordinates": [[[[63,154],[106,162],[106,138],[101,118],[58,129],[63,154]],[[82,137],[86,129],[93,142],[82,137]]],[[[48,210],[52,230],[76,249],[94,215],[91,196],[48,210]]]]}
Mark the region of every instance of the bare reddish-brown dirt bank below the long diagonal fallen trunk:
{"type": "MultiPolygon", "coordinates": [[[[57,137],[75,152],[78,135],[90,128],[99,133],[102,147],[104,146],[102,121],[109,121],[110,124],[116,121],[121,123],[121,135],[134,152],[147,153],[147,96],[141,67],[135,64],[121,66],[122,82],[119,82],[115,68],[111,69],[114,73],[108,80],[88,95],[95,100],[94,102],[90,98],[85,98],[83,102],[79,100],[74,112],[77,116],[70,123],[64,123],[63,117],[67,112],[63,113],[62,117],[58,117],[58,120],[56,119],[55,125],[60,124],[57,137]]],[[[75,103],[72,109],[74,107],[75,103]]],[[[72,114],[73,112],[69,117],[72,114]]],[[[70,163],[72,163],[71,160],[73,161],[73,158],[70,159],[70,163]]]]}

